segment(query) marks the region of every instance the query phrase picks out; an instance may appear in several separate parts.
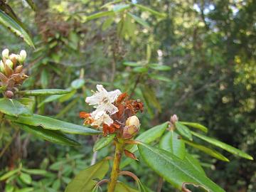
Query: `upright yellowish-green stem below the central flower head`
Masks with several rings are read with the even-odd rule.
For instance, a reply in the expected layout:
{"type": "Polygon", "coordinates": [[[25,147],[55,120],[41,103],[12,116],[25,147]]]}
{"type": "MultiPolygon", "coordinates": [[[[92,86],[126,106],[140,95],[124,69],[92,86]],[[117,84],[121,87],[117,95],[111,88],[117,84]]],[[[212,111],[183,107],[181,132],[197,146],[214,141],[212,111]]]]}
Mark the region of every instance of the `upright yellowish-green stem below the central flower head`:
{"type": "Polygon", "coordinates": [[[110,182],[107,186],[107,192],[114,192],[114,188],[117,184],[117,178],[118,178],[118,174],[119,174],[119,165],[121,162],[122,153],[124,151],[124,146],[125,146],[125,144],[122,140],[118,141],[116,143],[116,149],[115,149],[115,153],[114,153],[114,164],[112,167],[110,182]]]}

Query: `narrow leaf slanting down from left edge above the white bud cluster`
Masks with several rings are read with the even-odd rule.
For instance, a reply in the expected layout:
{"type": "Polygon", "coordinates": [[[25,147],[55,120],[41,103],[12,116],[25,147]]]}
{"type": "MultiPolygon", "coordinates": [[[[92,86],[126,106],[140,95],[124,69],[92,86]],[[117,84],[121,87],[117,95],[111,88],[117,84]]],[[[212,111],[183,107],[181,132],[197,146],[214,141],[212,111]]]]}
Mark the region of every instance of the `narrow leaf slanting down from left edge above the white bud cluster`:
{"type": "Polygon", "coordinates": [[[16,36],[22,38],[23,41],[28,43],[28,46],[35,48],[35,46],[33,45],[33,41],[31,40],[28,33],[21,26],[19,26],[18,23],[16,23],[16,21],[14,21],[13,18],[8,16],[7,14],[4,13],[4,11],[1,11],[1,10],[0,10],[0,23],[6,28],[8,28],[16,36]]]}

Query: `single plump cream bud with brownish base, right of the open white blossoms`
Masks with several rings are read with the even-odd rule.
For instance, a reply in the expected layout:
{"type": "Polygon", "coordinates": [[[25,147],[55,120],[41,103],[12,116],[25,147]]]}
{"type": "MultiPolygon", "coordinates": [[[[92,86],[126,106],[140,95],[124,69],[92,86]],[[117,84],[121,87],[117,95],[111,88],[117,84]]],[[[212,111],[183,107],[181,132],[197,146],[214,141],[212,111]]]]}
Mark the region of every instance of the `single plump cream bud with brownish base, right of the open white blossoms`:
{"type": "Polygon", "coordinates": [[[125,122],[125,127],[123,130],[122,137],[124,139],[132,139],[135,134],[139,132],[139,119],[135,115],[129,117],[125,122]]]}

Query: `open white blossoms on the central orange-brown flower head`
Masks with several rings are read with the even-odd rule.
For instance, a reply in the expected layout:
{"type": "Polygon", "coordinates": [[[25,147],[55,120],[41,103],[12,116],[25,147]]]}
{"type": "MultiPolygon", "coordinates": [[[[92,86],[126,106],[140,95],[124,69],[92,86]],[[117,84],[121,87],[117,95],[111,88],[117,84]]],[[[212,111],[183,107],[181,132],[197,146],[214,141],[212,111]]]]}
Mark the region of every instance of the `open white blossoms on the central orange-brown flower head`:
{"type": "Polygon", "coordinates": [[[97,85],[97,92],[90,97],[86,97],[85,102],[89,105],[94,105],[96,110],[90,115],[94,122],[92,126],[101,126],[103,123],[110,126],[113,120],[110,118],[111,114],[118,112],[117,107],[113,105],[117,97],[122,93],[120,90],[107,92],[103,85],[97,85]]]}

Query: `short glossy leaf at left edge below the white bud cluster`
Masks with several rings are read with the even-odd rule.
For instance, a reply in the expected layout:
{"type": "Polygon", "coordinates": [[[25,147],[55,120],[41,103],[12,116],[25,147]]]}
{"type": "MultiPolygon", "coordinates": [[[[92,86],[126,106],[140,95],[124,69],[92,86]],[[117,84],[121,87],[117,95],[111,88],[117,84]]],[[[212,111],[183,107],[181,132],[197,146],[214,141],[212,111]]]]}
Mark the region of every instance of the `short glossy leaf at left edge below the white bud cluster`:
{"type": "Polygon", "coordinates": [[[33,113],[25,105],[18,100],[7,98],[0,99],[0,112],[18,117],[19,115],[32,115],[33,113]]]}

